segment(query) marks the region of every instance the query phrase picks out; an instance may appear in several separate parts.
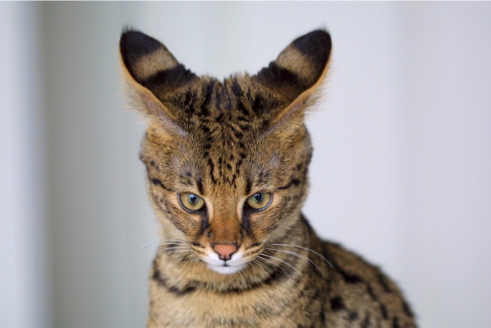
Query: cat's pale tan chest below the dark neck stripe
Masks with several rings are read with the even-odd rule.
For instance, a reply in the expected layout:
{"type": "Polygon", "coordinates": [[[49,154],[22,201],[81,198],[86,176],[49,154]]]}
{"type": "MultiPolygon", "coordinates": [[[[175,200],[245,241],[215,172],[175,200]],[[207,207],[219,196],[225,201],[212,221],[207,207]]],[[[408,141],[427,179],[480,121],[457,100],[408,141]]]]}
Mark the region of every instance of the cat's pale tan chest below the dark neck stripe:
{"type": "MultiPolygon", "coordinates": [[[[183,294],[151,283],[149,327],[297,327],[299,313],[319,304],[299,290],[271,288],[233,293],[194,290],[183,294]]],[[[314,310],[315,311],[315,310],[314,310]]]]}

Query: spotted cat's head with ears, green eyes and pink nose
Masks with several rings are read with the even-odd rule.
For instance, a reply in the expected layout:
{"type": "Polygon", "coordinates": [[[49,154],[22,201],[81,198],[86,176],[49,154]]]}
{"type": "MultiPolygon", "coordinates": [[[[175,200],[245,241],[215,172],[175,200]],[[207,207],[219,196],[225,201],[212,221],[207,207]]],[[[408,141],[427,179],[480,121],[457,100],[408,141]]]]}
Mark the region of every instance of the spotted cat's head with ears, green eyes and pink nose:
{"type": "Polygon", "coordinates": [[[304,124],[326,75],[331,39],[295,39],[255,75],[198,77],[158,40],[124,31],[120,58],[133,107],[148,117],[140,158],[165,238],[233,273],[299,220],[311,142],[304,124]]]}

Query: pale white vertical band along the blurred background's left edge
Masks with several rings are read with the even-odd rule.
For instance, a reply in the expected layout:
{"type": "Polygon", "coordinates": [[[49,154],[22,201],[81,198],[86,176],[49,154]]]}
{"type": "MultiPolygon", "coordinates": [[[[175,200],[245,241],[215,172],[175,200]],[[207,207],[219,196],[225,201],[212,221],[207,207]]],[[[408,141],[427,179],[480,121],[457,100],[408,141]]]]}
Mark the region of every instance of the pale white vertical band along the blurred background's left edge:
{"type": "Polygon", "coordinates": [[[0,3],[0,326],[50,325],[39,4],[0,3]]]}

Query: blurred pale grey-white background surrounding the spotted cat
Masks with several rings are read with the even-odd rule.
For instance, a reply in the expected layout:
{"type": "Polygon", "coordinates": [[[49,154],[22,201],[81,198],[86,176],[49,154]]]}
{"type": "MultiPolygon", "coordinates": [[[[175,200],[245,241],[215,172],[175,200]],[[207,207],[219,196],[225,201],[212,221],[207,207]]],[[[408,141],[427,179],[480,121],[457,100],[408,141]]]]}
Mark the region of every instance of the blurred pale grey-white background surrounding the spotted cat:
{"type": "Polygon", "coordinates": [[[421,327],[491,326],[491,3],[1,2],[1,327],[145,325],[158,227],[125,24],[218,78],[327,27],[305,214],[393,277],[421,327]]]}

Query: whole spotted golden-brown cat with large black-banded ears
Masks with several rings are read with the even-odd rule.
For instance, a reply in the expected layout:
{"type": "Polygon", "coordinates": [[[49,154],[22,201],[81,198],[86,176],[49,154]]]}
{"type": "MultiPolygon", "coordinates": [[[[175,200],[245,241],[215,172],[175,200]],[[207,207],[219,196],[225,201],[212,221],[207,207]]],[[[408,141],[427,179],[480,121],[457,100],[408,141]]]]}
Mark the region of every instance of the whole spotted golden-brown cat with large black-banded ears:
{"type": "Polygon", "coordinates": [[[120,59],[148,117],[140,158],[161,240],[148,327],[415,327],[377,267],[321,240],[300,212],[312,155],[304,124],[331,38],[295,39],[255,75],[198,77],[125,30],[120,59]]]}

